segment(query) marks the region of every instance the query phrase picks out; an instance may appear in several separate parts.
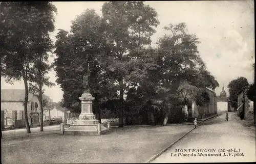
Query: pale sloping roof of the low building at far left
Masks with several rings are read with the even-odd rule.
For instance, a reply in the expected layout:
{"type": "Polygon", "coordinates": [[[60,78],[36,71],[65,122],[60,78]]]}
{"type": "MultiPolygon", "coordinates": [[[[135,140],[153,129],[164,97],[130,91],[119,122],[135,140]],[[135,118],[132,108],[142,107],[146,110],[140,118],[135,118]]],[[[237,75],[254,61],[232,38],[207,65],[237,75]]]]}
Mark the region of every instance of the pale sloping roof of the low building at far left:
{"type": "MultiPolygon", "coordinates": [[[[34,94],[29,93],[30,100],[34,94]]],[[[3,89],[1,90],[1,101],[24,101],[25,90],[23,89],[3,89]]]]}

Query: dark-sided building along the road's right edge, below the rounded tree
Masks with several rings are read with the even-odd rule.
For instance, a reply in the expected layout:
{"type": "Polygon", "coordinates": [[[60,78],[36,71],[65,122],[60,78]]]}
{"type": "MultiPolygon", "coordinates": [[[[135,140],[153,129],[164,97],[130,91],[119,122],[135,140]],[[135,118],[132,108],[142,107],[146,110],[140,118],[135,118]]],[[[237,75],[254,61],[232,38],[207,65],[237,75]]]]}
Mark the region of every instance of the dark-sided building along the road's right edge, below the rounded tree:
{"type": "Polygon", "coordinates": [[[238,116],[244,120],[249,120],[250,115],[253,115],[253,102],[247,97],[248,87],[243,87],[238,92],[238,116]]]}

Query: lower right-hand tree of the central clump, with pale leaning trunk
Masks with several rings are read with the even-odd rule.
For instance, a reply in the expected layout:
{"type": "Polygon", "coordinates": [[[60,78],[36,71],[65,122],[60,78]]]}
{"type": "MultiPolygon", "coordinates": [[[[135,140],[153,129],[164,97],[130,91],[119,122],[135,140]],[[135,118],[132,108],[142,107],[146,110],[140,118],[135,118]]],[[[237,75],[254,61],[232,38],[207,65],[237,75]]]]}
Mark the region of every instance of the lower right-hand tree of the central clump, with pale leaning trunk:
{"type": "Polygon", "coordinates": [[[129,63],[127,77],[135,87],[143,88],[145,100],[154,105],[162,104],[164,125],[170,110],[177,104],[194,100],[203,104],[208,98],[202,88],[219,86],[199,55],[198,39],[187,34],[185,28],[185,23],[165,26],[170,35],[160,38],[157,48],[134,50],[129,63]]]}

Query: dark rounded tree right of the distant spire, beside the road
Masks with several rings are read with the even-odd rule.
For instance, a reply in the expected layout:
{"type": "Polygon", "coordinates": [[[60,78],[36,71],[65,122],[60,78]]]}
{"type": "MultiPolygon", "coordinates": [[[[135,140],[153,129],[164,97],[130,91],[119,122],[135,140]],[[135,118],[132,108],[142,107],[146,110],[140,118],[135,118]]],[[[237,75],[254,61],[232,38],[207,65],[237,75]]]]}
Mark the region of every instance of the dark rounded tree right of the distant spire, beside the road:
{"type": "Polygon", "coordinates": [[[233,79],[228,84],[230,105],[235,109],[238,108],[238,94],[243,87],[248,86],[248,80],[245,77],[233,79]]]}

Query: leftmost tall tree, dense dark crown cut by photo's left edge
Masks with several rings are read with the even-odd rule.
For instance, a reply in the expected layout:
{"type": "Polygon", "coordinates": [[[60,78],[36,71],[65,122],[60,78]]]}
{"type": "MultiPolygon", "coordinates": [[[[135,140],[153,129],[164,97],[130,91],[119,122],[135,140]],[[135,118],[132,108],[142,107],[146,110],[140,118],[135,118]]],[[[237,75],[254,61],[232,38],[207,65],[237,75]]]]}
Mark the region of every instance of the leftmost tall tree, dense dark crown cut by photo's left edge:
{"type": "Polygon", "coordinates": [[[38,45],[45,44],[42,38],[47,38],[48,33],[54,30],[55,11],[50,2],[11,2],[1,14],[1,75],[8,83],[24,81],[24,114],[28,133],[28,81],[33,81],[31,75],[38,52],[45,51],[38,49],[38,45]]]}

